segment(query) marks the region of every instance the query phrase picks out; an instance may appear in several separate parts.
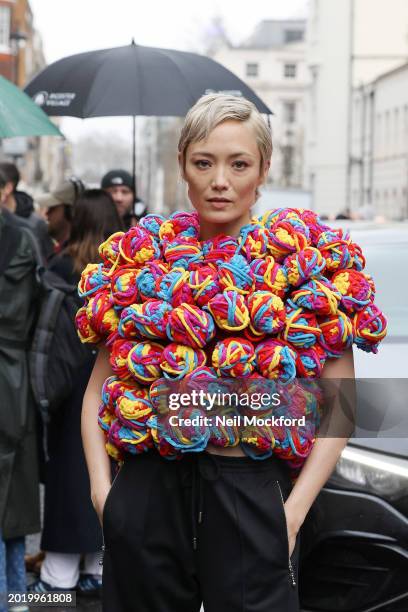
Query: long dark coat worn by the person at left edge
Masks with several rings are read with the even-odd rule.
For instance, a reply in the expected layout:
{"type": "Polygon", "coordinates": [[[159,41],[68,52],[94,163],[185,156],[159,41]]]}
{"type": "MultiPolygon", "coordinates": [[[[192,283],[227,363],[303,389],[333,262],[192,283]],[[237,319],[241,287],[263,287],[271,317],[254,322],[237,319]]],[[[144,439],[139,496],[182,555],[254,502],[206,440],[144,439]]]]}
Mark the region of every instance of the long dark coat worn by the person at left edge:
{"type": "Polygon", "coordinates": [[[8,227],[18,247],[0,275],[0,529],[3,538],[40,530],[36,409],[27,349],[36,317],[36,261],[20,220],[0,212],[0,248],[8,227]]]}

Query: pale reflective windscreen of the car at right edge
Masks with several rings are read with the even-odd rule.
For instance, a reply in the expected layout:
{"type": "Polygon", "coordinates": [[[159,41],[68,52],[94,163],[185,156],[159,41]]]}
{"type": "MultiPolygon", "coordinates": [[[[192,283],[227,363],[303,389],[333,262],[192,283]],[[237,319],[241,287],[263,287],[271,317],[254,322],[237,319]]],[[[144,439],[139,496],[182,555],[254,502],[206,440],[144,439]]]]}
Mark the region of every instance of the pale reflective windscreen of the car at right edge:
{"type": "Polygon", "coordinates": [[[388,336],[408,336],[408,245],[360,244],[365,271],[372,274],[377,289],[375,303],[388,320],[388,336]]]}

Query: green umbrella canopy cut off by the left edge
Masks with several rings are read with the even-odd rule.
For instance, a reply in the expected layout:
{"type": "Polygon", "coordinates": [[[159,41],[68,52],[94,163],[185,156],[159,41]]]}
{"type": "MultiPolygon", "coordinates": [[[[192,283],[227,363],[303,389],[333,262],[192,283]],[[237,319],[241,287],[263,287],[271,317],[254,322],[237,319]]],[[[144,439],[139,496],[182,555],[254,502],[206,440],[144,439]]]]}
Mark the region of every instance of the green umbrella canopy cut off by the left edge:
{"type": "Polygon", "coordinates": [[[62,134],[27,94],[0,76],[0,138],[15,136],[62,134]]]}

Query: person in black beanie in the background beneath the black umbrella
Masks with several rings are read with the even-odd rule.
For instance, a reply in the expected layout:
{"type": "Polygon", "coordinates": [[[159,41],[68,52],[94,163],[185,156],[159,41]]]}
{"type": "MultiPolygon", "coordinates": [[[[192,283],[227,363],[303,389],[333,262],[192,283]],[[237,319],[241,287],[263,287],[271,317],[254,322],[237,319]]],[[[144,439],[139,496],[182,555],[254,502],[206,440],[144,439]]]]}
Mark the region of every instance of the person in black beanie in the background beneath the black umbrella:
{"type": "Polygon", "coordinates": [[[101,181],[101,187],[115,202],[126,229],[136,225],[147,212],[147,207],[135,193],[133,178],[126,170],[110,170],[101,181]]]}

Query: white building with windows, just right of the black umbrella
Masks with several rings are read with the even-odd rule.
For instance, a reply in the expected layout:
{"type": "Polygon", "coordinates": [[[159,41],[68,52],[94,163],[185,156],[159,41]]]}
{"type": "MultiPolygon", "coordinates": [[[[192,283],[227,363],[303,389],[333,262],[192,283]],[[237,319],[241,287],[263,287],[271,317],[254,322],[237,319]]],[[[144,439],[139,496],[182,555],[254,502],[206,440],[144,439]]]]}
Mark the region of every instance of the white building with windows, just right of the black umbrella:
{"type": "Polygon", "coordinates": [[[266,20],[242,45],[224,44],[213,55],[267,104],[274,153],[270,183],[302,187],[305,96],[308,87],[304,20],[266,20]]]}

